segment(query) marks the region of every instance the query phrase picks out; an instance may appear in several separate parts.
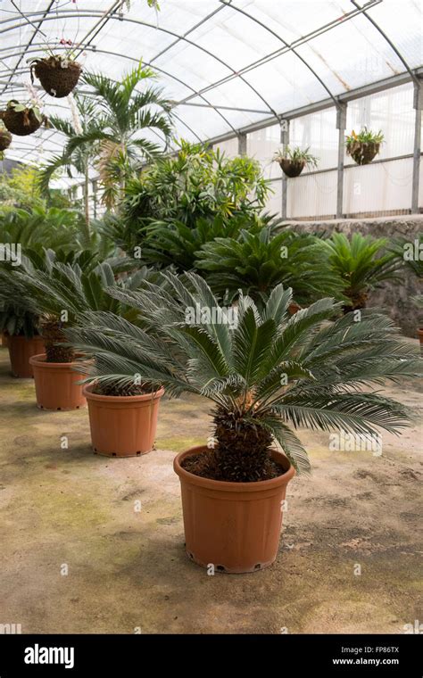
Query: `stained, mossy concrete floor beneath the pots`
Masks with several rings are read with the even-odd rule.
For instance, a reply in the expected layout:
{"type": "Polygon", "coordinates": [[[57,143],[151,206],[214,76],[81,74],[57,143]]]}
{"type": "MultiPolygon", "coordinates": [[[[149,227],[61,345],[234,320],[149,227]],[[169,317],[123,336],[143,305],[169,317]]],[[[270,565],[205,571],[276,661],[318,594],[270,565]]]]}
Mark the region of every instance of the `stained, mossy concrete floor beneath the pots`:
{"type": "MultiPolygon", "coordinates": [[[[0,362],[1,624],[22,633],[403,633],[423,620],[418,427],[384,434],[382,457],[329,451],[328,434],[301,432],[314,472],[289,485],[277,562],[209,576],[186,557],[172,470],[177,451],[210,434],[207,402],[162,401],[157,450],[107,459],[90,449],[87,409],[39,411],[33,382],[9,375],[5,349],[0,362]]],[[[388,393],[421,415],[421,384],[413,388],[388,393]]]]}

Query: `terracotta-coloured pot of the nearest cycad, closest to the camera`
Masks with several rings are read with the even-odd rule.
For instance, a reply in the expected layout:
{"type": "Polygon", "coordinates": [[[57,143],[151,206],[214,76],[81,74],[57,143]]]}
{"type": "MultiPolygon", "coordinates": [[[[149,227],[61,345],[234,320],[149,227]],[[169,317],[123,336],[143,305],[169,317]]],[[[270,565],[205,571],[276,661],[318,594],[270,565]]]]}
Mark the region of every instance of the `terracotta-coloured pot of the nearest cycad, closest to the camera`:
{"type": "Polygon", "coordinates": [[[270,566],[278,553],[282,524],[281,502],[294,467],[284,454],[273,459],[283,475],[257,483],[226,483],[194,475],[181,467],[186,457],[206,447],[193,447],[174,459],[182,492],[187,555],[218,572],[243,573],[270,566]]]}

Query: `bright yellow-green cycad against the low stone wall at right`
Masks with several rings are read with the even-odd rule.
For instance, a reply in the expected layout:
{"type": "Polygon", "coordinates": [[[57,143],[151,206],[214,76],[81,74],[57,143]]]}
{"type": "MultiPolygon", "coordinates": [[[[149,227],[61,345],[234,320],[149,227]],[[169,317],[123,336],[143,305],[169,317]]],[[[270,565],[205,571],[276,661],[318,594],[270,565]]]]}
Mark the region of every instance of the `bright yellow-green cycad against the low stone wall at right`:
{"type": "Polygon", "coordinates": [[[334,233],[320,241],[328,255],[329,267],[344,285],[344,295],[349,302],[344,311],[363,309],[369,292],[388,280],[400,279],[401,264],[394,252],[388,252],[387,238],[373,238],[353,233],[334,233]]]}

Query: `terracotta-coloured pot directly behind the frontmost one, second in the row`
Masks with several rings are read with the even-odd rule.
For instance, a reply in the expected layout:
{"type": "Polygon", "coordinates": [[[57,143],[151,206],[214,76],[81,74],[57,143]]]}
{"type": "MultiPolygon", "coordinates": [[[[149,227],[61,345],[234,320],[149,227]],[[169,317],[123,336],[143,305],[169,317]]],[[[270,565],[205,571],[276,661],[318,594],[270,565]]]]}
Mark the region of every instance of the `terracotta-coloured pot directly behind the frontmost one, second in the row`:
{"type": "Polygon", "coordinates": [[[153,450],[161,388],[153,394],[98,395],[86,384],[93,450],[107,457],[136,457],[153,450]]]}

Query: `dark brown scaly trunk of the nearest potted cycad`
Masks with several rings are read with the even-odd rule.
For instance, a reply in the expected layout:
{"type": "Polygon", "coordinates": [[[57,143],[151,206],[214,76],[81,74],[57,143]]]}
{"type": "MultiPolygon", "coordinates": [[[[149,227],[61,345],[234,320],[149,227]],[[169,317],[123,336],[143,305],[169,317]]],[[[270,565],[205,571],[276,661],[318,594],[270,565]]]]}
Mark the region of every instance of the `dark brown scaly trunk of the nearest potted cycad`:
{"type": "Polygon", "coordinates": [[[242,409],[228,412],[216,409],[213,415],[215,438],[214,459],[219,480],[248,483],[262,479],[263,469],[270,461],[272,436],[245,421],[242,409]]]}

